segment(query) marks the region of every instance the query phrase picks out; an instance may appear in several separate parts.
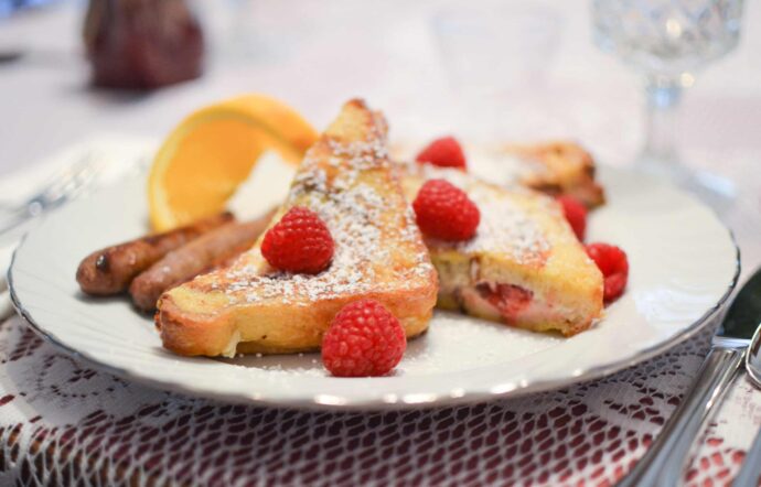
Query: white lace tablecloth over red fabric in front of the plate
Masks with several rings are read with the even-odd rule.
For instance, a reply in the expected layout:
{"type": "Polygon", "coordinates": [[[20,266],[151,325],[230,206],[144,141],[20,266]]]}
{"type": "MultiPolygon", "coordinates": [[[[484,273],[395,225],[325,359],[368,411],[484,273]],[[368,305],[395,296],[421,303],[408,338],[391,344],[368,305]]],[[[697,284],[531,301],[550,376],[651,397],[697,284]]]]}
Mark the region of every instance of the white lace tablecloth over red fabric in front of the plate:
{"type": "MultiPolygon", "coordinates": [[[[0,325],[0,485],[611,485],[694,377],[710,329],[607,379],[377,413],[228,405],[99,372],[0,325]]],[[[727,485],[761,425],[739,377],[685,472],[727,485]]]]}

